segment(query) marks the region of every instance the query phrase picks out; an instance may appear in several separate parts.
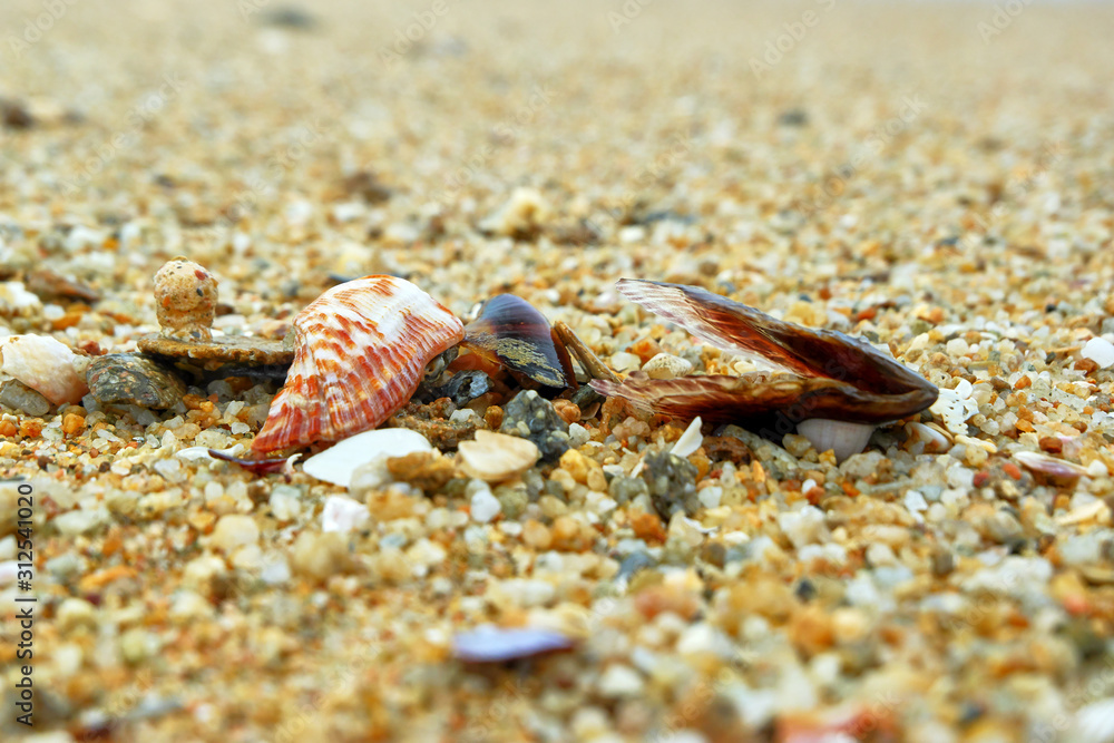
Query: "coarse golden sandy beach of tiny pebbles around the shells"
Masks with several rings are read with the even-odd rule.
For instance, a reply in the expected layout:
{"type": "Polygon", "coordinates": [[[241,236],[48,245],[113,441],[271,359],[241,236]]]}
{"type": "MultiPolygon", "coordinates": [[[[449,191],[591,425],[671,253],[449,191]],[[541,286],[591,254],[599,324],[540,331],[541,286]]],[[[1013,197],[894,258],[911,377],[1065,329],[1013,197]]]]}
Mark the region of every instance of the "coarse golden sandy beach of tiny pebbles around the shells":
{"type": "Polygon", "coordinates": [[[1114,741],[1112,28],[0,3],[0,737],[1114,741]],[[176,256],[270,368],[139,353],[176,256]],[[753,372],[615,282],[698,286],[940,398],[842,461],[719,423],[671,458],[690,420],[492,372],[390,418],[428,443],[348,487],[322,446],[208,456],[251,452],[299,313],[370,274],[465,322],[517,295],[620,377],[753,372]],[[13,336],[72,364],[22,379],[13,336]],[[479,442],[535,412],[490,475],[479,442]],[[538,635],[470,656],[485,626],[538,635]]]}

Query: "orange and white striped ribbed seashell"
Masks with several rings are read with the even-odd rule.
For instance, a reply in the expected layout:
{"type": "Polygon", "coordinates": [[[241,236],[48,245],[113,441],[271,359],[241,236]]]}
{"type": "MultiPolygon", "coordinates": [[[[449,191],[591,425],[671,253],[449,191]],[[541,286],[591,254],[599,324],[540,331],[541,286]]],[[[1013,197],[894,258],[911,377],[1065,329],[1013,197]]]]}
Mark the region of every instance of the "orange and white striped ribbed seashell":
{"type": "Polygon", "coordinates": [[[294,317],[294,362],[252,449],[331,443],[375,428],[414,393],[422,370],[463,339],[463,325],[413,284],[364,276],[294,317]]]}

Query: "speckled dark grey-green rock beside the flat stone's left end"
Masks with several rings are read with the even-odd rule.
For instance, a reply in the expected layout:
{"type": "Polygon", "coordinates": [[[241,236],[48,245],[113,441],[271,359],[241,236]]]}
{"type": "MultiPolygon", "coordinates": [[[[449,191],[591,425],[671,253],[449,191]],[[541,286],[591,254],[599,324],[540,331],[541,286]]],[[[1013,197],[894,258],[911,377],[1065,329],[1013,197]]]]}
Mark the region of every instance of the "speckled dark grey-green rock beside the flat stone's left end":
{"type": "Polygon", "coordinates": [[[165,410],[186,393],[174,372],[138,353],[114,353],[89,364],[89,392],[100,404],[165,410]]]}

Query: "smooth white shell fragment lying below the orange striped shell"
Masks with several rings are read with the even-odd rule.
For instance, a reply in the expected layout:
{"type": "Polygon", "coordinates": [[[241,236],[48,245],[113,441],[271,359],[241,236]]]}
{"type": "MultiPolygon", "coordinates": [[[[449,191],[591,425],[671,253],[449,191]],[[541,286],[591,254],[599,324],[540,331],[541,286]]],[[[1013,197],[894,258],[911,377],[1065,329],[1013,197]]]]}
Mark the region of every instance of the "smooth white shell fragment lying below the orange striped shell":
{"type": "Polygon", "coordinates": [[[383,470],[381,477],[370,477],[365,471],[364,475],[368,477],[361,479],[361,485],[378,487],[390,481],[387,476],[388,459],[404,457],[416,451],[432,450],[432,444],[417,431],[404,428],[377,429],[356,433],[310,457],[302,465],[302,469],[319,480],[348,488],[352,485],[352,476],[358,469],[365,466],[381,466],[383,470]]]}

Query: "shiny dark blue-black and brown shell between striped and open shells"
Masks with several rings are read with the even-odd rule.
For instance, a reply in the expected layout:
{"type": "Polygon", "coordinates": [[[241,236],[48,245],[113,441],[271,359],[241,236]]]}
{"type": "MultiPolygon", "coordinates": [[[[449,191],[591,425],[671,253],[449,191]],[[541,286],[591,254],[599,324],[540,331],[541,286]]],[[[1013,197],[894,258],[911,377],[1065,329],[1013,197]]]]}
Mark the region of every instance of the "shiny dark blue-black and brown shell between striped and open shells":
{"type": "Polygon", "coordinates": [[[555,342],[545,315],[520,296],[499,294],[485,302],[461,344],[502,364],[520,384],[555,391],[576,387],[565,346],[555,342]]]}

